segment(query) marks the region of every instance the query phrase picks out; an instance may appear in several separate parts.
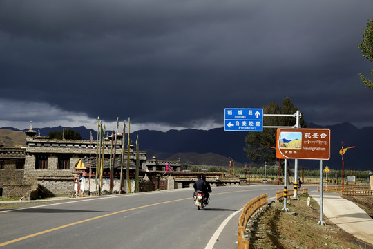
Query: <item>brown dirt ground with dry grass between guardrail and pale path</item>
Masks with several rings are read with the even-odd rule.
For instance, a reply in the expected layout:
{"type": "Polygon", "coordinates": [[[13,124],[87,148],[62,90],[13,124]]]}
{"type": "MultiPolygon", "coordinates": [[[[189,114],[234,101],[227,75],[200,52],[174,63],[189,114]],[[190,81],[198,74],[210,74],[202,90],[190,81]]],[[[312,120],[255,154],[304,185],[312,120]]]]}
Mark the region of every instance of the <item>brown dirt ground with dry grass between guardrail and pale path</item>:
{"type": "MultiPolygon", "coordinates": [[[[352,243],[356,238],[338,228],[323,216],[326,225],[318,225],[320,209],[307,196],[299,196],[298,201],[287,204],[290,212],[283,212],[283,202],[274,202],[260,215],[249,248],[363,248],[352,243]]],[[[362,205],[372,210],[373,197],[358,198],[362,205]]]]}

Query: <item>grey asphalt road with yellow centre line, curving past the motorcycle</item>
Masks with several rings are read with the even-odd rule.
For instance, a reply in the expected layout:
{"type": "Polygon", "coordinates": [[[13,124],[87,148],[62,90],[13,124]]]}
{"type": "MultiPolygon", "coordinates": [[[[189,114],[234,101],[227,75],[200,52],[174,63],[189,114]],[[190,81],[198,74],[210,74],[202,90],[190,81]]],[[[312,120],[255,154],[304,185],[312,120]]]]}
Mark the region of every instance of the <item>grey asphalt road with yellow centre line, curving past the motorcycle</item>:
{"type": "Polygon", "coordinates": [[[71,199],[0,211],[3,248],[237,248],[238,210],[283,186],[213,187],[204,210],[193,190],[71,199]]]}

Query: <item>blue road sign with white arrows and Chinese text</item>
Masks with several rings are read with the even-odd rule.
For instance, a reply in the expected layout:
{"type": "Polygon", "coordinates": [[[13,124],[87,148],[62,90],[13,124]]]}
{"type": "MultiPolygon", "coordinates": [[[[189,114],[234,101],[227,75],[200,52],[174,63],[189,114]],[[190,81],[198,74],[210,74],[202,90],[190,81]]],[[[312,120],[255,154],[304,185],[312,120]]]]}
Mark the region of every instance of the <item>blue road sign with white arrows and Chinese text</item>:
{"type": "Polygon", "coordinates": [[[263,131],[263,109],[225,108],[224,131],[263,131]]]}

